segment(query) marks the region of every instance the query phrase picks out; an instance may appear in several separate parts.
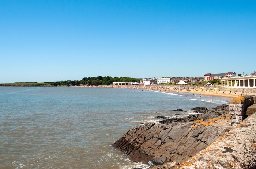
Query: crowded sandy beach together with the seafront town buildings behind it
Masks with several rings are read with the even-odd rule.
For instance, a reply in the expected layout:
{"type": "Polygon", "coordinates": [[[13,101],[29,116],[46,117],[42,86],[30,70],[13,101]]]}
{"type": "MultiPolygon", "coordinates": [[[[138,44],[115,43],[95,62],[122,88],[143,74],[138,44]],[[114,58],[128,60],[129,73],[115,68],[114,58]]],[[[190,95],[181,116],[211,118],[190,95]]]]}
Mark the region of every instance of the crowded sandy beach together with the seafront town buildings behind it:
{"type": "Polygon", "coordinates": [[[204,74],[202,77],[144,78],[138,82],[113,82],[113,87],[186,92],[196,95],[237,97],[256,93],[256,72],[236,76],[235,72],[204,74]]]}

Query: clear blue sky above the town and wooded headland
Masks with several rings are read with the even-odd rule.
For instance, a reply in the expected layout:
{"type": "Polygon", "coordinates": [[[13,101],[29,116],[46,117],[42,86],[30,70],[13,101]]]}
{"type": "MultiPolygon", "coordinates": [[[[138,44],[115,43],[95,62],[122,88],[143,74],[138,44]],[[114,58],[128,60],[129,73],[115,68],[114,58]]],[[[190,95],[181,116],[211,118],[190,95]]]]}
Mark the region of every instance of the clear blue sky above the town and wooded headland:
{"type": "Polygon", "coordinates": [[[255,0],[0,0],[0,83],[251,74],[255,63],[255,0]]]}

